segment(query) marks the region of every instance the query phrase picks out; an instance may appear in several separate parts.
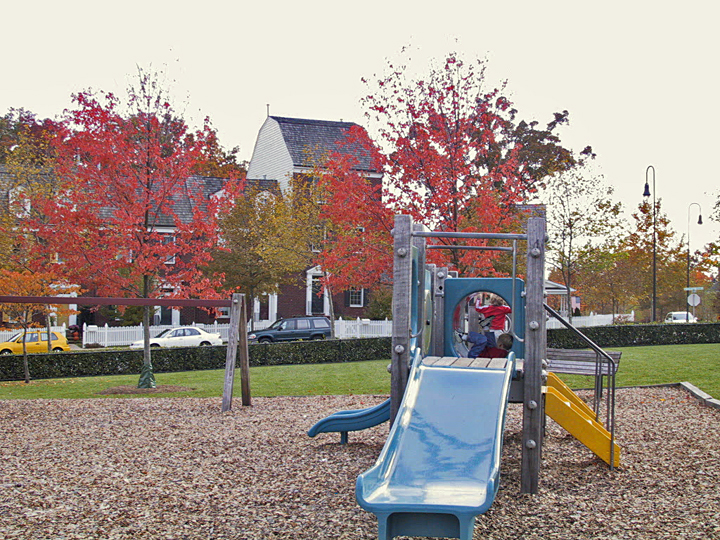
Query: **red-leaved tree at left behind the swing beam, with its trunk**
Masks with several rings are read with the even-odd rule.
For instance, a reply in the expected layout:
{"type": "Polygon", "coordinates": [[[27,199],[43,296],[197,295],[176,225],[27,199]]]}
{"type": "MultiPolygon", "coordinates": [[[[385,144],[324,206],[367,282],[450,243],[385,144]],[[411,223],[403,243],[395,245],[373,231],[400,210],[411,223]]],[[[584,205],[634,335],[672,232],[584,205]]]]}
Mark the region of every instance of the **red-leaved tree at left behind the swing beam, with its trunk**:
{"type": "MultiPolygon", "coordinates": [[[[214,148],[206,120],[191,132],[176,116],[156,75],[139,73],[127,110],[112,94],[73,96],[58,140],[60,196],[37,198],[34,228],[62,261],[67,277],[101,296],[213,297],[203,277],[216,243],[222,197],[192,173],[214,148]]],[[[233,182],[225,185],[232,197],[233,182]]],[[[150,307],[139,386],[154,387],[149,348],[150,307]]]]}

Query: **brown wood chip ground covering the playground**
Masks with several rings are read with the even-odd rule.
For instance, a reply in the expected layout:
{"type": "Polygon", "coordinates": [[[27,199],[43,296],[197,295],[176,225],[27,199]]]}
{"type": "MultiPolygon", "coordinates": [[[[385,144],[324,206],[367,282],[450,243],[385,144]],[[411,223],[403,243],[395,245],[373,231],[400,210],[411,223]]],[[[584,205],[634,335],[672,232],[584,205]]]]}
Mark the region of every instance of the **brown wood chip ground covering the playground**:
{"type": "MultiPolygon", "coordinates": [[[[387,424],[307,437],[384,396],[0,401],[0,538],[373,539],[355,479],[387,424]]],[[[720,411],[677,388],[623,389],[620,470],[552,421],[541,490],[521,495],[519,405],[476,539],[720,539],[720,411]]]]}

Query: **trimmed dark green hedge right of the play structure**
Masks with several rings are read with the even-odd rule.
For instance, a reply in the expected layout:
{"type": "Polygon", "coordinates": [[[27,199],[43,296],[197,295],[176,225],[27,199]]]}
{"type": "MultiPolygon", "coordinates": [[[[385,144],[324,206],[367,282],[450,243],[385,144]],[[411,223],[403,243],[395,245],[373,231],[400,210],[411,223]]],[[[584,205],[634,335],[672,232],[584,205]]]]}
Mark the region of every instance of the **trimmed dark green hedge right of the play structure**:
{"type": "MultiPolygon", "coordinates": [[[[720,343],[720,324],[717,323],[592,326],[580,331],[600,347],[720,343]]],[[[587,348],[587,344],[567,328],[548,330],[547,341],[548,347],[556,349],[587,348]]]]}

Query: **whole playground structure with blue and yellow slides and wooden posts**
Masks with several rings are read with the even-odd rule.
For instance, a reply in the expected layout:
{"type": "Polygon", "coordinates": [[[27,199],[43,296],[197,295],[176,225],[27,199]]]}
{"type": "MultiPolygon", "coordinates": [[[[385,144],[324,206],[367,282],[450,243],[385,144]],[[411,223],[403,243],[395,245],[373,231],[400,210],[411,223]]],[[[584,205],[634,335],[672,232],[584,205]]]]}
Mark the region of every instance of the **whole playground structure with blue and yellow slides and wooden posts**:
{"type": "MultiPolygon", "coordinates": [[[[546,370],[546,310],[553,313],[544,303],[544,219],[530,218],[526,234],[453,233],[427,231],[401,215],[393,236],[390,398],[375,407],[335,413],[308,432],[340,432],[345,443],[349,431],[392,422],[376,464],[356,485],[360,506],[377,516],[380,540],[472,538],[476,516],[492,505],[499,487],[509,402],[523,404],[521,492],[538,491],[545,414],[611,468],[618,466],[614,414],[608,410],[605,429],[599,405],[591,409],[546,370]],[[457,249],[426,245],[427,238],[438,237],[511,243],[460,249],[511,252],[512,277],[463,278],[426,265],[426,249],[457,249]],[[518,242],[527,247],[525,282],[515,276],[518,242]],[[479,292],[496,294],[512,308],[514,343],[507,358],[466,358],[461,336],[477,328],[473,298],[479,292]]],[[[604,367],[607,361],[613,362],[598,352],[596,381],[608,378],[608,408],[614,408],[615,369],[604,367]]]]}

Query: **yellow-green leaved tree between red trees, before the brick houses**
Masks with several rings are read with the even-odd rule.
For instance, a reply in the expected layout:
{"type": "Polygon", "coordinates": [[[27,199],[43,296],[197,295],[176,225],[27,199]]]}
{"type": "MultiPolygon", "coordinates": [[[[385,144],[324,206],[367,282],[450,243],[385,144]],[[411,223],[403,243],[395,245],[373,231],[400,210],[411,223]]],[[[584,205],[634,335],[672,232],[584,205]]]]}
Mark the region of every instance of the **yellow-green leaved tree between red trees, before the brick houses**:
{"type": "Polygon", "coordinates": [[[221,242],[207,275],[221,278],[226,290],[244,292],[250,305],[294,283],[322,242],[316,189],[302,178],[290,180],[285,192],[246,186],[219,219],[221,242]]]}

